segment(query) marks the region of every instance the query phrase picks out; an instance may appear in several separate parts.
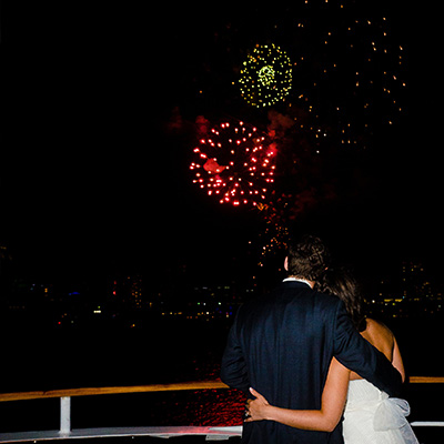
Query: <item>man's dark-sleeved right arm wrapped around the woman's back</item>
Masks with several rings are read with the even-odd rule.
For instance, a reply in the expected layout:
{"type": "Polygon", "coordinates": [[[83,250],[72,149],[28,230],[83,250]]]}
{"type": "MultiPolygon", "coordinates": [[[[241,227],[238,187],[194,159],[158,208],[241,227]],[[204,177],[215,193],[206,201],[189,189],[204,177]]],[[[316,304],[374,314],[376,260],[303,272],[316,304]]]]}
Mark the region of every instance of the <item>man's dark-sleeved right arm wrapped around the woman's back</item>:
{"type": "Polygon", "coordinates": [[[342,302],[336,312],[333,354],[341,364],[390,396],[400,394],[402,387],[400,372],[383,353],[357,333],[342,302]]]}

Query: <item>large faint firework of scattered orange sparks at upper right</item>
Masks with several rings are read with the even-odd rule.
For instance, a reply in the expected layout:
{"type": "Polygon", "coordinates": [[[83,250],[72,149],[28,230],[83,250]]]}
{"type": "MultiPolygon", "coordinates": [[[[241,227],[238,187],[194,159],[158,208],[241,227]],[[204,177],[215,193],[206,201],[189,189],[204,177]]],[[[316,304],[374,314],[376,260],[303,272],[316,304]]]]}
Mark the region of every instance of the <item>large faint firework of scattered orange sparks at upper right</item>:
{"type": "Polygon", "coordinates": [[[366,147],[377,130],[400,120],[404,48],[386,18],[364,18],[352,1],[307,1],[304,9],[297,24],[287,26],[297,77],[287,101],[311,115],[301,125],[317,145],[366,147]]]}

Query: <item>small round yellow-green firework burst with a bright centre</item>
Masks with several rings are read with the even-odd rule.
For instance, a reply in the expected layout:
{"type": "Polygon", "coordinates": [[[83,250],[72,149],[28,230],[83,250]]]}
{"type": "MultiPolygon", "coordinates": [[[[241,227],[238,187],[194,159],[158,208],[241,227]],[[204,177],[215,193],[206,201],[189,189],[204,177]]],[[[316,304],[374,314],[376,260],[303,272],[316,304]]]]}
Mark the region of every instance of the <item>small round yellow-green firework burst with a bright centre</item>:
{"type": "Polygon", "coordinates": [[[292,63],[275,44],[256,46],[241,70],[242,97],[253,107],[270,107],[289,94],[292,63]]]}

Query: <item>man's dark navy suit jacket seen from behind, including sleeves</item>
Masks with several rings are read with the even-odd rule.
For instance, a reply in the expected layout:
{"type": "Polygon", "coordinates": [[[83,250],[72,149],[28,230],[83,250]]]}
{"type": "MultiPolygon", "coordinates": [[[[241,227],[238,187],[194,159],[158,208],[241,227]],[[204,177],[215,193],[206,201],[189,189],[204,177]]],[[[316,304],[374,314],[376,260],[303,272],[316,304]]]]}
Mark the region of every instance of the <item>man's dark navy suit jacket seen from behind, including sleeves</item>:
{"type": "MultiPolygon", "coordinates": [[[[307,284],[286,281],[271,295],[239,309],[222,359],[221,379],[270,404],[320,410],[329,365],[335,356],[379,389],[395,395],[401,375],[354,329],[344,304],[307,284]]],[[[309,432],[272,421],[244,423],[243,443],[343,443],[334,432],[309,432]]]]}

